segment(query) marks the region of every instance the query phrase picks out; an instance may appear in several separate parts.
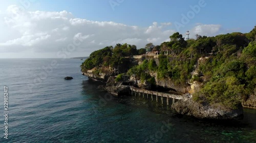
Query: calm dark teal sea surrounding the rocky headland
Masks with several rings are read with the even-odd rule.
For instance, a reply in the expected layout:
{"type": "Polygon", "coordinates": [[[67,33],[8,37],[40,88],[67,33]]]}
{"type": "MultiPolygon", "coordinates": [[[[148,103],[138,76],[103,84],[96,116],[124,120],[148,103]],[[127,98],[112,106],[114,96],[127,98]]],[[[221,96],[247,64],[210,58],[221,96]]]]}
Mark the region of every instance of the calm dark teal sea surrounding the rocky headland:
{"type": "Polygon", "coordinates": [[[0,59],[0,93],[4,85],[9,91],[8,139],[1,116],[0,142],[256,142],[256,110],[245,109],[240,122],[220,124],[172,117],[146,99],[120,103],[81,75],[81,62],[0,59]]]}

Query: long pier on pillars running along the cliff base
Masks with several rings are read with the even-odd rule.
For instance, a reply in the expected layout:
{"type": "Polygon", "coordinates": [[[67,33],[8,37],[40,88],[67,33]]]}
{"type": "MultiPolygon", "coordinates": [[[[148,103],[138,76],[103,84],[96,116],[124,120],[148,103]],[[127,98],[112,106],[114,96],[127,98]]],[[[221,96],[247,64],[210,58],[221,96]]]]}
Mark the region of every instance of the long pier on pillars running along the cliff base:
{"type": "Polygon", "coordinates": [[[148,90],[144,90],[144,89],[138,89],[138,88],[134,88],[134,87],[130,87],[131,91],[132,91],[132,95],[133,92],[135,92],[135,97],[137,96],[137,93],[139,96],[141,96],[144,98],[145,95],[148,99],[148,95],[151,96],[151,100],[153,101],[153,95],[156,96],[156,102],[158,102],[158,97],[161,97],[161,103],[163,104],[163,98],[166,97],[166,104],[167,106],[169,105],[169,98],[173,99],[172,103],[175,103],[175,99],[180,100],[183,99],[183,97],[181,95],[175,95],[175,94],[168,94],[168,93],[161,93],[161,92],[155,92],[155,91],[148,91],[148,90]]]}

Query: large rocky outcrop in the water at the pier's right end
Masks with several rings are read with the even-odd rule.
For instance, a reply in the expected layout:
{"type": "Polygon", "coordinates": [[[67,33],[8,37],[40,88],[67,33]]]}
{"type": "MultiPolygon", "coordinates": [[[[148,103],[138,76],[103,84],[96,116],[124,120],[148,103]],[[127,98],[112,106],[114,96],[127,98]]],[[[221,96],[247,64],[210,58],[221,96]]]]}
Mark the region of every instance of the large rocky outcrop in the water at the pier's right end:
{"type": "Polygon", "coordinates": [[[226,108],[221,104],[201,104],[192,100],[190,94],[185,94],[182,100],[173,106],[178,113],[199,119],[238,120],[243,118],[242,104],[237,109],[226,108]]]}

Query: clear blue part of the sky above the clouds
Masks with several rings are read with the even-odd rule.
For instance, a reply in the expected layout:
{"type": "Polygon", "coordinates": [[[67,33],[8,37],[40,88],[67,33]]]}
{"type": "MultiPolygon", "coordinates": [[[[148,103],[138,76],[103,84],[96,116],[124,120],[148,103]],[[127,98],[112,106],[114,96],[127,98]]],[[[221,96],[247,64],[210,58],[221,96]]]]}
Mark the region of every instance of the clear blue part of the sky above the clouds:
{"type": "MultiPolygon", "coordinates": [[[[38,0],[42,11],[67,10],[76,17],[94,21],[115,21],[128,25],[149,26],[152,22],[180,21],[181,14],[190,11],[189,6],[198,5],[198,0],[192,1],[156,1],[156,0],[120,0],[123,1],[114,10],[109,0],[86,1],[43,1],[38,0]]],[[[113,0],[113,2],[118,2],[113,0]]],[[[249,32],[256,24],[256,1],[210,1],[191,19],[188,27],[195,23],[221,24],[227,29],[241,29],[249,32]]],[[[36,9],[34,9],[36,10],[36,9]]]]}

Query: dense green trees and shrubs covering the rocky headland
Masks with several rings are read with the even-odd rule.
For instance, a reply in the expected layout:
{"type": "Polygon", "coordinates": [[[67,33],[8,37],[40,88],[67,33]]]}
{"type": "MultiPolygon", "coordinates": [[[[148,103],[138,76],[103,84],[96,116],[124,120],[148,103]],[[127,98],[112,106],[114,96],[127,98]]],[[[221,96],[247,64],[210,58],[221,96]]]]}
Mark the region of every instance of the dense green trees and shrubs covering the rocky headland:
{"type": "Polygon", "coordinates": [[[145,48],[116,44],[92,52],[81,65],[81,71],[96,68],[100,73],[102,67],[118,69],[116,81],[127,74],[150,84],[157,80],[172,80],[181,87],[202,83],[193,92],[194,101],[231,109],[256,94],[256,26],[246,34],[196,35],[196,39],[185,40],[177,32],[169,38],[169,42],[157,46],[148,43],[153,45],[152,51],[160,52],[157,58],[145,54],[145,48]],[[142,55],[137,63],[135,55],[142,55]]]}

